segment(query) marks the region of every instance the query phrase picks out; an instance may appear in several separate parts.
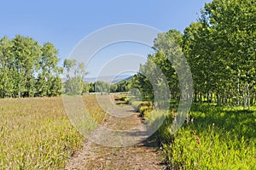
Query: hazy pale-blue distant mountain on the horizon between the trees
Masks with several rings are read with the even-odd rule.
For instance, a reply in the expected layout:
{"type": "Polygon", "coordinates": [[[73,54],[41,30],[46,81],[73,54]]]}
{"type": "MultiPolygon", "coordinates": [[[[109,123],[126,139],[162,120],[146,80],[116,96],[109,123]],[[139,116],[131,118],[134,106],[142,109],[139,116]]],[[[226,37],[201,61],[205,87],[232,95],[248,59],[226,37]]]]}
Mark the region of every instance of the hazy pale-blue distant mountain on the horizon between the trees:
{"type": "Polygon", "coordinates": [[[111,84],[116,84],[118,82],[122,82],[125,80],[129,80],[133,77],[133,75],[119,75],[117,77],[109,76],[109,77],[85,77],[85,82],[96,82],[96,81],[102,81],[102,82],[108,82],[111,84]]]}

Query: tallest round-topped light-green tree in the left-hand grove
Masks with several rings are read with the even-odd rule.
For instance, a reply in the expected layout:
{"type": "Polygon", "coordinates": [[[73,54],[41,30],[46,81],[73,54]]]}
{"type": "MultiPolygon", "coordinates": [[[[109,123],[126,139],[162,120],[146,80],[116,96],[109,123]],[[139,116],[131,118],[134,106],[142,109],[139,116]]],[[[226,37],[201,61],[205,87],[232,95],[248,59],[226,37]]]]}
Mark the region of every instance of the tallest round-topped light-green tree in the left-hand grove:
{"type": "Polygon", "coordinates": [[[38,71],[38,61],[41,47],[31,37],[16,36],[12,42],[15,56],[15,70],[17,71],[16,92],[18,96],[32,97],[35,94],[35,80],[33,73],[38,71]]]}

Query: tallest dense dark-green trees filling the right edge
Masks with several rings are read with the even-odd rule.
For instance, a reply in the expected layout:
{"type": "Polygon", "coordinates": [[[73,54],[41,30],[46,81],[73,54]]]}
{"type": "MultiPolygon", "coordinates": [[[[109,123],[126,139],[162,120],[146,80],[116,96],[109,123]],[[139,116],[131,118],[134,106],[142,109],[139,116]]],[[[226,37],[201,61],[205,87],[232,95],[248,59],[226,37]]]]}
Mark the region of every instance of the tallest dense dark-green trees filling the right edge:
{"type": "Polygon", "coordinates": [[[183,52],[193,74],[195,101],[205,95],[218,105],[253,105],[255,11],[253,0],[213,0],[202,9],[201,19],[185,29],[183,52]]]}

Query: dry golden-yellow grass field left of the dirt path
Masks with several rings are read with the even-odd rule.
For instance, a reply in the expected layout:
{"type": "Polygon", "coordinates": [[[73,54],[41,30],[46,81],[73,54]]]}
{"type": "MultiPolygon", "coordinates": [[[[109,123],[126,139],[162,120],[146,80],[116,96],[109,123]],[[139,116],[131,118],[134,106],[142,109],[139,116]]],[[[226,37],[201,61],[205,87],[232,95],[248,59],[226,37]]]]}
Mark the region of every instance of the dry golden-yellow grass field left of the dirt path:
{"type": "MultiPolygon", "coordinates": [[[[84,102],[101,122],[95,96],[84,102]]],[[[55,169],[82,146],[59,98],[0,99],[0,169],[55,169]]]]}

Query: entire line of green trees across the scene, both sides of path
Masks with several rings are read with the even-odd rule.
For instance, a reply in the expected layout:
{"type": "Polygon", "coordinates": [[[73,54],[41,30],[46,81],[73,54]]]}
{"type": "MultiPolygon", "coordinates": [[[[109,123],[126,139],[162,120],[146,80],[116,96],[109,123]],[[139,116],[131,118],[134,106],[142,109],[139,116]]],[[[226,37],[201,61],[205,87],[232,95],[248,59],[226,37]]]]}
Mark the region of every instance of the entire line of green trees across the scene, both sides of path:
{"type": "Polygon", "coordinates": [[[170,30],[154,40],[154,54],[131,81],[109,85],[85,83],[85,65],[65,59],[58,65],[58,51],[50,42],[40,45],[20,35],[0,40],[0,98],[122,92],[138,88],[144,99],[156,94],[195,102],[244,105],[256,100],[256,7],[253,0],[213,0],[183,33],[170,30]],[[181,56],[189,63],[182,65],[181,56]],[[180,93],[180,82],[192,72],[193,95],[180,93]],[[61,82],[65,71],[66,80],[61,82]],[[165,78],[163,78],[163,75],[165,78]],[[169,89],[166,89],[166,84],[169,89]],[[155,91],[157,89],[157,91],[155,91]],[[170,91],[170,93],[166,93],[170,91]]]}

